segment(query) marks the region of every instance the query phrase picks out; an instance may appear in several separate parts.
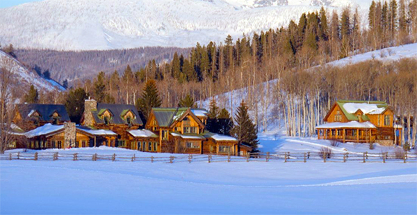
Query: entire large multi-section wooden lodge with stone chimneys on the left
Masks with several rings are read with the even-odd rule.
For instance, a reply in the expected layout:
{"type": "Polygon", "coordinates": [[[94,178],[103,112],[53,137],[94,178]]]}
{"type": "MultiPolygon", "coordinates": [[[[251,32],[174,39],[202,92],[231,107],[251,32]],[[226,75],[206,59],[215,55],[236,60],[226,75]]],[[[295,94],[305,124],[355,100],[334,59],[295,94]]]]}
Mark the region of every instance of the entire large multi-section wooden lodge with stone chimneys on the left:
{"type": "Polygon", "coordinates": [[[87,99],[81,125],[70,122],[65,107],[55,104],[19,104],[13,122],[23,128],[16,133],[25,137],[26,143],[20,145],[32,149],[106,145],[191,154],[245,155],[252,151],[232,136],[206,131],[207,113],[205,109],[154,108],[143,125],[133,105],[87,99]]]}

